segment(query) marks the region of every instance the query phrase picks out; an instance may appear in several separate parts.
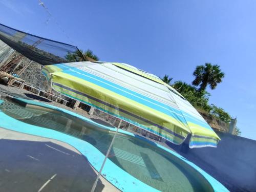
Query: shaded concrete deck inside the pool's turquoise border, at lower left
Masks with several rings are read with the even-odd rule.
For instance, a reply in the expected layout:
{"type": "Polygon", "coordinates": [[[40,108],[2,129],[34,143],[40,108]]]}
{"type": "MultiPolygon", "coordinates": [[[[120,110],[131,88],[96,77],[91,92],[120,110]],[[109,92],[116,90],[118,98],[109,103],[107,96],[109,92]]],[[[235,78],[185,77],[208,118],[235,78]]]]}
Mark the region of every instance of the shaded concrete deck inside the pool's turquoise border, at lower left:
{"type": "MultiPolygon", "coordinates": [[[[65,142],[0,127],[0,146],[1,191],[90,191],[98,174],[65,142]]],[[[95,191],[120,190],[100,176],[95,191]]]]}

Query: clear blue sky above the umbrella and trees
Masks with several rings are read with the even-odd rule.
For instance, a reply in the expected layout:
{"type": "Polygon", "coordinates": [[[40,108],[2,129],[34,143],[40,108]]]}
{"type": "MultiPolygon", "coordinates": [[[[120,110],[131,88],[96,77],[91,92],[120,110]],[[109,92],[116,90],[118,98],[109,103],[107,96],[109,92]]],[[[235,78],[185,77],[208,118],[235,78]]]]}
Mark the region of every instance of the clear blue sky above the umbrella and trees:
{"type": "Polygon", "coordinates": [[[37,0],[0,0],[0,23],[188,83],[197,65],[218,64],[226,77],[210,103],[256,140],[256,1],[41,1],[70,39],[37,0]]]}

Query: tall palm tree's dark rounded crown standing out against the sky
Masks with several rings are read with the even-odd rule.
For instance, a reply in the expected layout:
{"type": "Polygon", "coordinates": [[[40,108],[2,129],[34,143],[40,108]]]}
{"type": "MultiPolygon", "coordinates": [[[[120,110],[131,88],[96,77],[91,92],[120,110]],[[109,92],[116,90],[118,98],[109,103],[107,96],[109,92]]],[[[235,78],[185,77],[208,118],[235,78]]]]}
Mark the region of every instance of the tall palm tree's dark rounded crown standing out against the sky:
{"type": "Polygon", "coordinates": [[[193,75],[195,80],[192,82],[194,86],[200,86],[199,91],[206,89],[209,84],[210,89],[215,89],[217,84],[222,81],[222,78],[225,76],[221,72],[220,66],[211,65],[211,63],[205,63],[205,66],[197,66],[193,75]]]}

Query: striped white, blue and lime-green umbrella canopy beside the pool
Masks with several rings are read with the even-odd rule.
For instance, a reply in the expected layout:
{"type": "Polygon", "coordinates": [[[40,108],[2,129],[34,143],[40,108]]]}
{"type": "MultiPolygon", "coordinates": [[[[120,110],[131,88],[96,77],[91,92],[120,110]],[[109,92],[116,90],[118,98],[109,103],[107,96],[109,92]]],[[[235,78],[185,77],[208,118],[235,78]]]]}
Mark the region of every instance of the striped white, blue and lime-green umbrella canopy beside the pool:
{"type": "Polygon", "coordinates": [[[45,66],[57,92],[189,147],[217,146],[220,138],[197,110],[157,76],[124,63],[71,62],[45,66]]]}

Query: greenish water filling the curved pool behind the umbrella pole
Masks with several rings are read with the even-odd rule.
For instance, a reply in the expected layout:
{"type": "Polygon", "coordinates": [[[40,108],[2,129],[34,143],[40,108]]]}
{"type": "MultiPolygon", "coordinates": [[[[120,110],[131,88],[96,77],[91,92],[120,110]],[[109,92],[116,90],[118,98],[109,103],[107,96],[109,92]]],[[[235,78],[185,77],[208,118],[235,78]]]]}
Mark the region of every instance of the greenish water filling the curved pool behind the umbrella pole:
{"type": "MultiPolygon", "coordinates": [[[[104,155],[115,134],[67,113],[35,105],[22,106],[11,99],[4,99],[0,110],[19,121],[85,140],[104,155]]],[[[108,158],[133,177],[161,191],[212,191],[194,168],[139,136],[118,133],[108,158]]]]}

